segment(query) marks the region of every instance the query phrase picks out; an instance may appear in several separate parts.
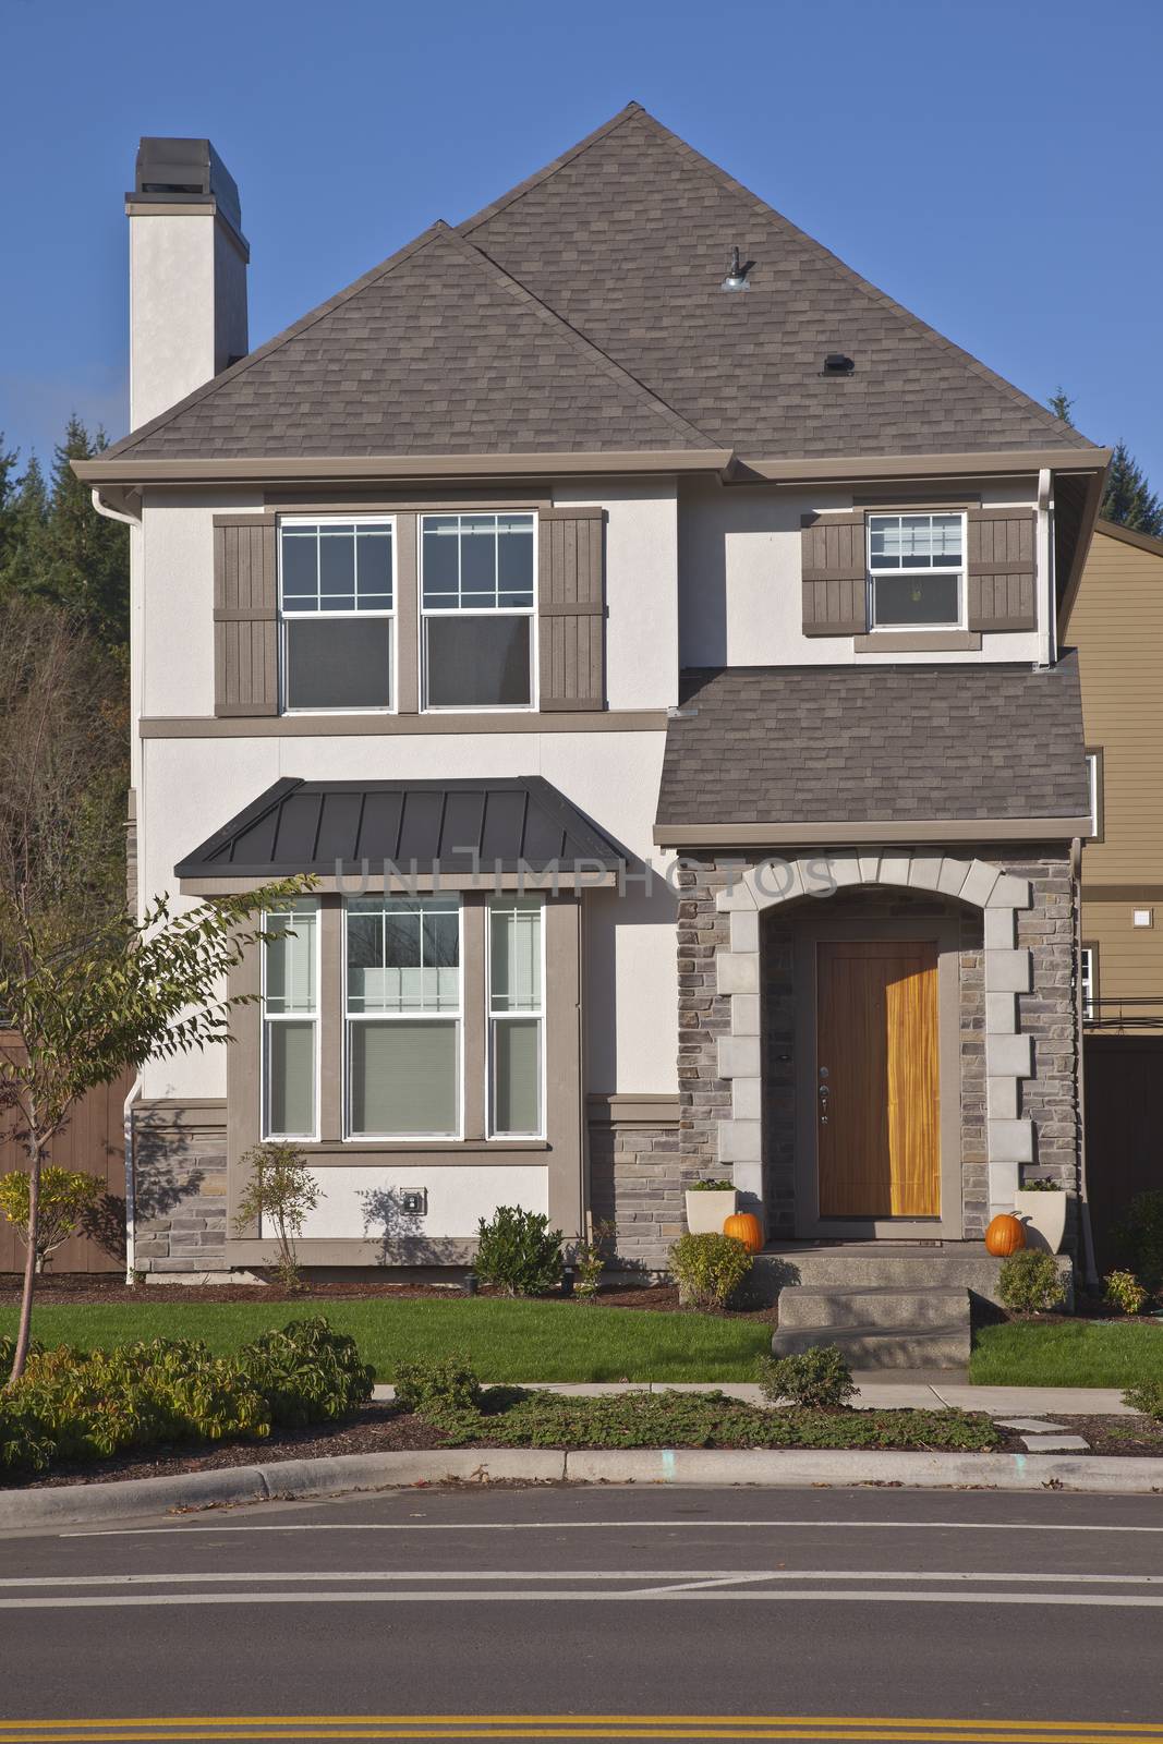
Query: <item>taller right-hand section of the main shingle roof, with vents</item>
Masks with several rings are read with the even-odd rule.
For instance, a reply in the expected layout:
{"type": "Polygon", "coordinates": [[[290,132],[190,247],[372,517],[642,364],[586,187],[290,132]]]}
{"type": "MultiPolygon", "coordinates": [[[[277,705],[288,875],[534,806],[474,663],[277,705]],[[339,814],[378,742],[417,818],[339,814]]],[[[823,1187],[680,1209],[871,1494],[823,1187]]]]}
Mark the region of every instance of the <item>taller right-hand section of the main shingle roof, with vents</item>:
{"type": "Polygon", "coordinates": [[[1092,446],[636,103],[460,230],[743,455],[1092,446]],[[720,288],[732,244],[748,291],[720,288]]]}

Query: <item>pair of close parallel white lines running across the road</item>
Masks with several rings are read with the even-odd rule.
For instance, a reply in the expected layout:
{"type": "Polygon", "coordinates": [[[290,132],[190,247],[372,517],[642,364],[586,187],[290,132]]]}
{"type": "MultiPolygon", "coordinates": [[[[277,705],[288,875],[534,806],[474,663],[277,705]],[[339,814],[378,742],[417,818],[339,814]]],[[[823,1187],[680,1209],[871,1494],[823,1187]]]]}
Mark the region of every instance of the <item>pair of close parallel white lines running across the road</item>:
{"type": "MultiPolygon", "coordinates": [[[[987,1582],[996,1580],[1008,1585],[1039,1585],[1044,1582],[1058,1582],[1062,1585],[1079,1585],[1079,1587],[1163,1587],[1163,1575],[1076,1575],[1069,1570],[1048,1570],[1044,1573],[1020,1570],[994,1573],[990,1570],[921,1570],[921,1568],[560,1568],[560,1570],[534,1570],[534,1568],[514,1568],[514,1570],[476,1570],[476,1568],[459,1568],[459,1570],[427,1570],[427,1568],[408,1568],[408,1570],[378,1570],[378,1568],[356,1568],[340,1570],[330,1573],[323,1568],[310,1568],[303,1571],[282,1573],[274,1570],[265,1571],[248,1571],[237,1575],[223,1573],[169,1573],[169,1575],[16,1575],[12,1578],[0,1580],[0,1589],[3,1587],[143,1587],[143,1585],[239,1585],[248,1580],[286,1580],[286,1582],[303,1582],[317,1580],[323,1584],[330,1582],[354,1582],[354,1580],[375,1580],[375,1582],[401,1582],[401,1580],[422,1580],[434,1584],[448,1584],[453,1580],[479,1580],[479,1582],[499,1582],[499,1580],[668,1580],[684,1582],[697,1585],[715,1585],[718,1582],[741,1582],[741,1580],[968,1580],[968,1582],[987,1582]]],[[[675,1587],[673,1591],[678,1591],[675,1587]]]]}

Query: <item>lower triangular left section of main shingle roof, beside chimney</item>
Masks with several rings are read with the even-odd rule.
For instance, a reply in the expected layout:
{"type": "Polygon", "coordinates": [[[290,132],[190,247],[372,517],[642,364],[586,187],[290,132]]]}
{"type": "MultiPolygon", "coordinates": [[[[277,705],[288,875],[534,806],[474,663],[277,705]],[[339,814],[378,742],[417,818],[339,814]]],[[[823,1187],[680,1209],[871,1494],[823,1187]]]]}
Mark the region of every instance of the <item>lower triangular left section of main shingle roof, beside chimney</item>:
{"type": "Polygon", "coordinates": [[[710,446],[438,223],[101,460],[710,446]]]}

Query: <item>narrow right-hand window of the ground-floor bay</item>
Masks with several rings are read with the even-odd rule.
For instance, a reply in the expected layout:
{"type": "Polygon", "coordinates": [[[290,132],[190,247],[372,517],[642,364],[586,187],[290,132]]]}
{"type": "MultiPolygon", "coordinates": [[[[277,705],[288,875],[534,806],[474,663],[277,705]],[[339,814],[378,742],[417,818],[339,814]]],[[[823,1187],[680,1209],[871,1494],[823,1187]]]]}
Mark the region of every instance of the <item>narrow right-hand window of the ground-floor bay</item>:
{"type": "Polygon", "coordinates": [[[541,1137],[544,1005],[542,903],[495,902],[488,910],[488,1134],[541,1137]]]}

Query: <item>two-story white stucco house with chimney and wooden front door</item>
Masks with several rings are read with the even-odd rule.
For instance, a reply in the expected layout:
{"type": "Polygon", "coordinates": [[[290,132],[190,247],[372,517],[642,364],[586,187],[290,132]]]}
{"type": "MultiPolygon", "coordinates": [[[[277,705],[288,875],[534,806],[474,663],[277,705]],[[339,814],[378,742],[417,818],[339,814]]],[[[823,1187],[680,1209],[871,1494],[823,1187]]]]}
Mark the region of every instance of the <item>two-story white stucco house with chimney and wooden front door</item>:
{"type": "Polygon", "coordinates": [[[77,471],[133,528],[138,900],[317,875],[235,1045],[141,1074],[136,1264],[272,1257],[262,1135],[312,1266],[521,1203],[654,1271],[731,1174],[776,1249],[964,1282],[1074,1188],[1107,452],[638,105],[253,352],[209,143],[126,208],[134,427],[77,471]]]}

